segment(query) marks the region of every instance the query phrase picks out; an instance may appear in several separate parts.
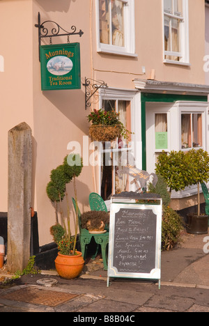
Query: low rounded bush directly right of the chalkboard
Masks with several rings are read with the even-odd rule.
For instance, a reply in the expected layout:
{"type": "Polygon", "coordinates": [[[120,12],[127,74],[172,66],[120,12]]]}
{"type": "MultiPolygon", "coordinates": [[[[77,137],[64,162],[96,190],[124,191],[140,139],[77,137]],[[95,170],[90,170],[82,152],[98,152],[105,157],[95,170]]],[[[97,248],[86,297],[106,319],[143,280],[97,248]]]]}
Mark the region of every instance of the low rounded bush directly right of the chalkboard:
{"type": "Polygon", "coordinates": [[[163,206],[162,212],[162,250],[172,249],[180,241],[183,219],[175,210],[163,206]]]}

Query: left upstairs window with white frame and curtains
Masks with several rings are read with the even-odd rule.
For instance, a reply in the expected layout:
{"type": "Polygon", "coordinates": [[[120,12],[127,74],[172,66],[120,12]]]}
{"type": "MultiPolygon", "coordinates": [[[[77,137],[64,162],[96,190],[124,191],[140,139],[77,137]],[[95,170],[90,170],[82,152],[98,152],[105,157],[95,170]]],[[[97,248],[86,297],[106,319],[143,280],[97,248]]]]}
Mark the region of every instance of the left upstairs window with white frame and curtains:
{"type": "Polygon", "coordinates": [[[134,55],[134,0],[98,0],[98,52],[134,55]]]}

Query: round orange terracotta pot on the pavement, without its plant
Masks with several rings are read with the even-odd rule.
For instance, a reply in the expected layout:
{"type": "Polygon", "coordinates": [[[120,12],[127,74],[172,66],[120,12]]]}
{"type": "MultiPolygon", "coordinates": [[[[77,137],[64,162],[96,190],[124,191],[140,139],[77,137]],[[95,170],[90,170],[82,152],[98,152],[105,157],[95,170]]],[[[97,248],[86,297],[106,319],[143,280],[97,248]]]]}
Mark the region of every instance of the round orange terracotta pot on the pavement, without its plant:
{"type": "Polygon", "coordinates": [[[82,253],[77,251],[76,256],[65,256],[58,253],[55,259],[56,272],[63,279],[75,279],[82,272],[84,267],[84,258],[82,253]]]}

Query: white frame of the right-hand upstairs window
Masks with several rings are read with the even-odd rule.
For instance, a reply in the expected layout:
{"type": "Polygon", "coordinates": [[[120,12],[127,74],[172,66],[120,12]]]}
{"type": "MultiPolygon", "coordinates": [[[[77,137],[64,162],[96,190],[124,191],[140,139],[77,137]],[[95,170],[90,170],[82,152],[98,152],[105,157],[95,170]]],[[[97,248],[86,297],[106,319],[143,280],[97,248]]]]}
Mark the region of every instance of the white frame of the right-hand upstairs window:
{"type": "Polygon", "coordinates": [[[177,65],[190,65],[189,63],[189,3],[183,0],[183,17],[167,13],[168,17],[178,18],[180,20],[180,52],[167,52],[164,49],[164,0],[162,0],[162,26],[163,26],[163,62],[177,65]],[[179,56],[180,60],[165,59],[165,56],[179,56]]]}

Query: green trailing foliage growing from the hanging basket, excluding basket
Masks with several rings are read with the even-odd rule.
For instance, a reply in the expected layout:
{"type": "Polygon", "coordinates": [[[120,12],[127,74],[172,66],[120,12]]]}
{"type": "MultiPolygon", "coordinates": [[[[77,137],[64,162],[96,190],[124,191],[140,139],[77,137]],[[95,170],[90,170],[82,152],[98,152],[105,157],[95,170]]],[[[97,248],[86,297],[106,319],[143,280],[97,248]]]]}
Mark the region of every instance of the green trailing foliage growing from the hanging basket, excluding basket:
{"type": "Polygon", "coordinates": [[[120,112],[112,111],[104,111],[102,109],[96,110],[94,109],[91,114],[87,116],[88,122],[91,122],[93,126],[114,126],[118,128],[118,137],[121,134],[125,139],[128,139],[130,134],[129,130],[123,125],[123,123],[119,120],[120,112]]]}

